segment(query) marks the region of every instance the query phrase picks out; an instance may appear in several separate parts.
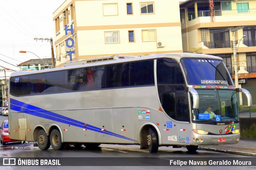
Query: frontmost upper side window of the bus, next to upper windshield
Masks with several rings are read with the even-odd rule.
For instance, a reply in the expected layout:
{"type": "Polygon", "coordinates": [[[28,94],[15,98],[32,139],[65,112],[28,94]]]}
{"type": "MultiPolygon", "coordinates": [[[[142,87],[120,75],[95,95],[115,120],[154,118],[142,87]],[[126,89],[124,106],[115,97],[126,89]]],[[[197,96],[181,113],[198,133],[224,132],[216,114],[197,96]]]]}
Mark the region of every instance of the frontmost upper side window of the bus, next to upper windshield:
{"type": "Polygon", "coordinates": [[[157,84],[184,84],[182,71],[172,59],[158,59],[156,62],[157,84]]]}

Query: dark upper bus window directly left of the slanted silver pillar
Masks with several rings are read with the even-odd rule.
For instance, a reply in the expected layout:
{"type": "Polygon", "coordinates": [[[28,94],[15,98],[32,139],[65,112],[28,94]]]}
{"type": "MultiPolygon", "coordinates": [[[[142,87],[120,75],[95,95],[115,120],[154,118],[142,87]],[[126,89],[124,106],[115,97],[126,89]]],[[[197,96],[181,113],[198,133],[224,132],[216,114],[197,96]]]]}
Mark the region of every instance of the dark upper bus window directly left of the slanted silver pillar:
{"type": "Polygon", "coordinates": [[[154,61],[130,63],[130,86],[154,84],[154,61]]]}

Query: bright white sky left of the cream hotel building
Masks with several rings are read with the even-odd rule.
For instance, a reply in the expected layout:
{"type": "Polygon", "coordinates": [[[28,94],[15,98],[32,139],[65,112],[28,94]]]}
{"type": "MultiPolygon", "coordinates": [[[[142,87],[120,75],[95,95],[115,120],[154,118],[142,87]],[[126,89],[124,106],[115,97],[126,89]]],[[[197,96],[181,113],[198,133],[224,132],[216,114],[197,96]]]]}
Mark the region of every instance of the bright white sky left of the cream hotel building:
{"type": "Polygon", "coordinates": [[[4,79],[3,68],[10,69],[6,71],[8,78],[12,70],[19,70],[20,63],[52,57],[50,42],[34,38],[54,39],[52,14],[63,2],[65,0],[1,0],[0,79],[4,79]],[[19,51],[30,51],[38,57],[19,51]]]}

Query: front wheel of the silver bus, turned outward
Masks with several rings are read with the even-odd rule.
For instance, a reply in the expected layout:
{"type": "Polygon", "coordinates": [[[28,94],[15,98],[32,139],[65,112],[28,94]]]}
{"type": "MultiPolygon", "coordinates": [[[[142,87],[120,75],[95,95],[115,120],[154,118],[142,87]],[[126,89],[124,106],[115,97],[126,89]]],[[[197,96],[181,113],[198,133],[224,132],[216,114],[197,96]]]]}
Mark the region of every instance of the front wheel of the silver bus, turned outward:
{"type": "Polygon", "coordinates": [[[158,136],[153,127],[148,129],[147,143],[150,153],[156,153],[158,151],[158,136]]]}

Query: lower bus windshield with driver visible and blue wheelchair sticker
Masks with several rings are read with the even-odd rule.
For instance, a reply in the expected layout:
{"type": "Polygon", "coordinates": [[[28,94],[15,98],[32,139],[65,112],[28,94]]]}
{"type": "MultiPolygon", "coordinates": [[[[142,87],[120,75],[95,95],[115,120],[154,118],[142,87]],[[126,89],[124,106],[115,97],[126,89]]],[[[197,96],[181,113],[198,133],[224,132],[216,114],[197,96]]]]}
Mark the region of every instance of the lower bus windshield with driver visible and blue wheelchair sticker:
{"type": "Polygon", "coordinates": [[[234,90],[196,89],[199,109],[194,109],[192,120],[197,122],[238,121],[238,99],[234,90]]]}

